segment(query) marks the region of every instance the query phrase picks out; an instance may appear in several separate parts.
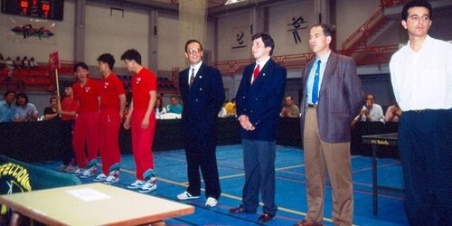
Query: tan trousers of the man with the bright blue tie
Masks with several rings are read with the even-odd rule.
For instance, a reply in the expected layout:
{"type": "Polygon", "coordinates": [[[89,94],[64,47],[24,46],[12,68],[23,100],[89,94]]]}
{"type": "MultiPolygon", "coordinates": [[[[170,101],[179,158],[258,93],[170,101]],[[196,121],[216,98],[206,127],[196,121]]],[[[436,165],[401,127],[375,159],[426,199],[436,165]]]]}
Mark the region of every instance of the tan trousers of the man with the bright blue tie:
{"type": "MultiPolygon", "coordinates": [[[[306,221],[322,224],[325,205],[325,176],[332,189],[334,225],[352,225],[353,183],[350,142],[326,143],[321,140],[316,118],[317,108],[307,108],[304,128],[306,171],[306,221]]],[[[331,127],[329,129],[334,129],[331,127]]],[[[344,133],[350,131],[344,131],[344,133]]]]}

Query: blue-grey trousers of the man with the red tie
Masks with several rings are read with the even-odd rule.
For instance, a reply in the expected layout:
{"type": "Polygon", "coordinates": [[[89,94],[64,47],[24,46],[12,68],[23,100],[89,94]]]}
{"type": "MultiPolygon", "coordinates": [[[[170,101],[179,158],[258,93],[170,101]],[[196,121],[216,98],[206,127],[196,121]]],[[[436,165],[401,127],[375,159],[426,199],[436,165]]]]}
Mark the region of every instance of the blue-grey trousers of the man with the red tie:
{"type": "Polygon", "coordinates": [[[256,212],[259,207],[260,191],[264,202],[262,212],[274,216],[278,211],[275,204],[276,141],[243,139],[242,146],[245,167],[242,207],[247,212],[256,212]]]}

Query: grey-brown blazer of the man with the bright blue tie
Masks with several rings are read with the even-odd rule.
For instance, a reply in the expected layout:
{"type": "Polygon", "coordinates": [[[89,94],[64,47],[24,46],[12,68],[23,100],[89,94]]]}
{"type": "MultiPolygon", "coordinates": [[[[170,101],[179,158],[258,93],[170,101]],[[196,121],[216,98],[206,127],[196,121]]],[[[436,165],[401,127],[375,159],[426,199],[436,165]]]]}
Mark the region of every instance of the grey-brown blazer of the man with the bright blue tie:
{"type": "MultiPolygon", "coordinates": [[[[307,62],[301,71],[303,96],[300,100],[301,139],[305,130],[306,83],[315,59],[307,62]]],[[[353,118],[363,108],[364,94],[361,80],[352,58],[331,52],[326,62],[324,79],[320,84],[317,102],[317,124],[320,139],[328,143],[351,140],[353,118]]]]}

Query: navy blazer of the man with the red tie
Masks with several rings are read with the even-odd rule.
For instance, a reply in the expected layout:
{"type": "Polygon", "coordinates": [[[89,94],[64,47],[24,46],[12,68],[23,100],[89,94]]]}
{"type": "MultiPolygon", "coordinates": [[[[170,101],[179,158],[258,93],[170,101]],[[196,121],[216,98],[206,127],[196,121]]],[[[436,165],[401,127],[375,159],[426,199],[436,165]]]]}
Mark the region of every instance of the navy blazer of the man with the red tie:
{"type": "Polygon", "coordinates": [[[252,131],[240,129],[241,137],[273,141],[278,137],[279,112],[286,89],[287,70],[272,59],[260,70],[251,85],[256,63],[243,71],[236,96],[237,115],[246,115],[256,128],[252,131]]]}

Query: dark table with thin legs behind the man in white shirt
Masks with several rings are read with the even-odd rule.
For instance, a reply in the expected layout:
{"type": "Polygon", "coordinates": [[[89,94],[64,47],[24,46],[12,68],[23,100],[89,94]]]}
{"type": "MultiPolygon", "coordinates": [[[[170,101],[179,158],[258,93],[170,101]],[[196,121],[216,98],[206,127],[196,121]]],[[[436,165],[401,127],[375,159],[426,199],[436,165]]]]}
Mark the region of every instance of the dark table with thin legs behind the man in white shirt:
{"type": "Polygon", "coordinates": [[[378,215],[378,191],[404,193],[403,189],[378,185],[377,182],[377,152],[379,146],[397,146],[397,133],[363,136],[364,144],[372,145],[372,198],[373,215],[378,215]]]}

